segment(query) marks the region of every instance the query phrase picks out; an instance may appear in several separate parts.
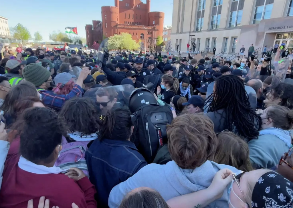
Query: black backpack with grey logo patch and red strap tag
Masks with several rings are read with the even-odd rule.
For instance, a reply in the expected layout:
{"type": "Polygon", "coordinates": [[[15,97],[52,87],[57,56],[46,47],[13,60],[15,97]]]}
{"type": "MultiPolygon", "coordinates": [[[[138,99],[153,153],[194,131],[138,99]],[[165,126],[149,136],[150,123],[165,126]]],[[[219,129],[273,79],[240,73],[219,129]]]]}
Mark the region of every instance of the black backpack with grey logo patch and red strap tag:
{"type": "Polygon", "coordinates": [[[168,106],[142,106],[132,114],[134,132],[132,141],[147,163],[152,163],[159,147],[167,144],[166,125],[173,114],[168,106]]]}

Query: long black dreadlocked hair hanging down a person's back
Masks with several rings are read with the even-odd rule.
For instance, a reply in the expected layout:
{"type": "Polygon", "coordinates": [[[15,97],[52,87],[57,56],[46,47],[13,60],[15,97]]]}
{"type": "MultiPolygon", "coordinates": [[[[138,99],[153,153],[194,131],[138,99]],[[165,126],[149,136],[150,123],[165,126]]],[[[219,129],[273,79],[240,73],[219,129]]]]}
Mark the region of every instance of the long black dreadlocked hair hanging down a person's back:
{"type": "Polygon", "coordinates": [[[248,140],[258,137],[255,121],[260,119],[250,106],[243,80],[235,75],[225,75],[216,80],[215,87],[214,95],[207,98],[209,100],[214,96],[208,112],[223,109],[229,131],[235,127],[238,134],[248,140]]]}

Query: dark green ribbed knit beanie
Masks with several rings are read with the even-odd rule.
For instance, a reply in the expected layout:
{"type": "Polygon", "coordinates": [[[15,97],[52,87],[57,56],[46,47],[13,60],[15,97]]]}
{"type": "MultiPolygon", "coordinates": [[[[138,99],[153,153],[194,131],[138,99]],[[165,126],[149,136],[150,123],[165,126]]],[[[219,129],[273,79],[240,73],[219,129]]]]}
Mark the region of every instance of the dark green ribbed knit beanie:
{"type": "Polygon", "coordinates": [[[22,75],[26,81],[39,87],[50,78],[51,73],[37,63],[30,63],[23,69],[22,75]]]}

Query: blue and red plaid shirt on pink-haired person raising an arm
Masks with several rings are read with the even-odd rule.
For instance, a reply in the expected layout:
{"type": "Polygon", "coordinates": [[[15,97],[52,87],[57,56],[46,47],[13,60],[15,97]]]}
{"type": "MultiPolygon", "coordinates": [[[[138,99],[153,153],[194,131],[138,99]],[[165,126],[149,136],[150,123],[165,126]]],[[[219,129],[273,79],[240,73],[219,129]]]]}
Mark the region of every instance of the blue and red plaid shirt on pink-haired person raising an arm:
{"type": "Polygon", "coordinates": [[[44,104],[54,109],[61,109],[65,101],[74,97],[81,97],[83,93],[83,89],[79,85],[74,85],[72,90],[66,95],[55,94],[52,91],[44,90],[39,87],[37,87],[37,90],[40,94],[42,94],[42,101],[44,104]]]}

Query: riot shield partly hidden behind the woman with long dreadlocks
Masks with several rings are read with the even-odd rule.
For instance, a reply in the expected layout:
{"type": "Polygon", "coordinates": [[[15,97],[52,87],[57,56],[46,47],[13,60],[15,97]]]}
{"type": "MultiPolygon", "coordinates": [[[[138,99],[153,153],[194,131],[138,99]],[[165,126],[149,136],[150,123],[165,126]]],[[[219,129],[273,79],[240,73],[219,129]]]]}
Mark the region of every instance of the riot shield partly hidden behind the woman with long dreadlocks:
{"type": "MultiPolygon", "coordinates": [[[[214,93],[213,92],[214,84],[215,84],[215,82],[211,82],[209,84],[209,86],[207,87],[207,96],[206,96],[206,100],[205,100],[204,113],[207,113],[207,111],[209,109],[209,104],[214,99],[214,97],[212,96],[212,94],[214,93]]],[[[256,92],[255,92],[255,90],[253,90],[252,87],[249,87],[246,85],[244,85],[244,87],[245,87],[245,91],[248,94],[248,101],[250,103],[250,106],[255,111],[256,110],[256,92]]]]}

